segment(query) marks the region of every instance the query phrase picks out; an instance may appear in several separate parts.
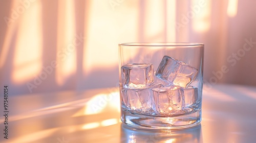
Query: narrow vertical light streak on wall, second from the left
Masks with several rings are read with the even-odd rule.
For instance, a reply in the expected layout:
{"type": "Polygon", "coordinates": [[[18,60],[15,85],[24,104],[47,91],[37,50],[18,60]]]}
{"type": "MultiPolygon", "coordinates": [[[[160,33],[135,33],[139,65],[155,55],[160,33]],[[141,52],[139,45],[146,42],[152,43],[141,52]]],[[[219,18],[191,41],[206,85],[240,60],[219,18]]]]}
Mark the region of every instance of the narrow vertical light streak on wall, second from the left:
{"type": "MultiPolygon", "coordinates": [[[[56,81],[63,85],[65,80],[76,71],[76,35],[74,1],[59,1],[57,29],[56,81]]],[[[81,43],[80,43],[81,44],[81,43]]]]}

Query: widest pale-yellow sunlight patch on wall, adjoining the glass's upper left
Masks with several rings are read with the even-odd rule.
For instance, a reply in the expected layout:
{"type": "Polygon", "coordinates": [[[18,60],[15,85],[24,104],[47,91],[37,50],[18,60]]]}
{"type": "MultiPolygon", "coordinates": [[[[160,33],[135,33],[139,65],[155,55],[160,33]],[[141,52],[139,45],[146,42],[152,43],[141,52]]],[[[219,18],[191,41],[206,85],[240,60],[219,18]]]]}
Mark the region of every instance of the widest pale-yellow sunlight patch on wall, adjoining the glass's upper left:
{"type": "MultiPolygon", "coordinates": [[[[84,75],[93,70],[110,69],[118,66],[118,44],[138,39],[138,9],[131,6],[137,1],[123,1],[113,8],[109,3],[100,0],[90,1],[90,13],[86,13],[87,33],[83,50],[84,75]],[[99,10],[100,9],[100,10],[99,10]],[[89,17],[89,18],[88,18],[89,17]]],[[[136,54],[136,53],[134,53],[136,54]]]]}

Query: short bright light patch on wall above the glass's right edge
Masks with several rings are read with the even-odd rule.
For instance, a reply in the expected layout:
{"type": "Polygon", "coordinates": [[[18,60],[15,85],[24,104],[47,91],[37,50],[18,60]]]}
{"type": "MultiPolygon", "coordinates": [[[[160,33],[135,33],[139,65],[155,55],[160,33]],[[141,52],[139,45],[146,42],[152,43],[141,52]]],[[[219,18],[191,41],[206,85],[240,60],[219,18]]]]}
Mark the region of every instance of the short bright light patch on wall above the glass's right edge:
{"type": "Polygon", "coordinates": [[[210,14],[211,14],[211,1],[193,0],[192,6],[195,9],[191,9],[189,12],[194,13],[193,30],[196,32],[206,32],[210,29],[210,14]]]}

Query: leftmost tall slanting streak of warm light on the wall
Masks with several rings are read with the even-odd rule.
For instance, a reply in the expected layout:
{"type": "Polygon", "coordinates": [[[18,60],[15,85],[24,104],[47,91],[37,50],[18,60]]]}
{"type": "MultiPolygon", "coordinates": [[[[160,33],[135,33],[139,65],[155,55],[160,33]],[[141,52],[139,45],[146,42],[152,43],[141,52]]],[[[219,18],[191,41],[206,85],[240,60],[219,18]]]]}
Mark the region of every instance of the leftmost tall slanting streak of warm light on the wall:
{"type": "MultiPolygon", "coordinates": [[[[34,79],[41,70],[42,21],[41,3],[34,2],[29,9],[20,15],[17,25],[17,39],[14,50],[12,80],[22,84],[34,79]],[[33,20],[31,20],[33,19],[33,20]],[[24,35],[26,33],[26,35],[24,35]]],[[[15,22],[15,21],[14,21],[15,22]]],[[[17,21],[16,21],[17,22],[17,21]]],[[[15,25],[15,23],[13,23],[15,25]]],[[[6,39],[8,40],[8,39],[6,39]]],[[[6,45],[7,46],[7,45],[6,45]]],[[[4,52],[7,47],[4,46],[4,52]]]]}

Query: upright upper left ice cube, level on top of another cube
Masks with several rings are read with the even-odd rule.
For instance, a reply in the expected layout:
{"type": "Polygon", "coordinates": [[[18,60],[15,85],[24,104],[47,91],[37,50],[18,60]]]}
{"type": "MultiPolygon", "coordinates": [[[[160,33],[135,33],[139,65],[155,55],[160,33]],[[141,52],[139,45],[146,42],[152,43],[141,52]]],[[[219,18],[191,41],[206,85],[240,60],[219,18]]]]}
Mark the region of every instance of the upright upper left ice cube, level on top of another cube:
{"type": "Polygon", "coordinates": [[[121,67],[122,87],[145,88],[153,83],[153,65],[128,63],[121,67]]]}

